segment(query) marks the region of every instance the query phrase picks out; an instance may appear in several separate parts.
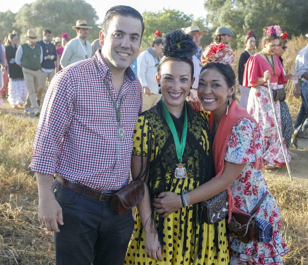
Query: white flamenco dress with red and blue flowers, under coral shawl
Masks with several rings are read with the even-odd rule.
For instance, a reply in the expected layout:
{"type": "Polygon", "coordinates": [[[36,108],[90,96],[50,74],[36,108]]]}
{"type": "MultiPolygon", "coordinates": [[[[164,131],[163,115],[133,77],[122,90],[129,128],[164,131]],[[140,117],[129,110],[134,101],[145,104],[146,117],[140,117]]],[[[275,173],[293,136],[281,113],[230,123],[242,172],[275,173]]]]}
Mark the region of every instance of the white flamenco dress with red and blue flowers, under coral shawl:
{"type": "Polygon", "coordinates": [[[257,157],[259,158],[262,154],[262,137],[258,126],[249,119],[243,118],[232,129],[225,153],[225,161],[247,164],[230,189],[236,207],[243,212],[251,212],[264,192],[266,192],[267,195],[264,201],[254,215],[257,219],[268,221],[273,226],[273,234],[270,241],[266,243],[253,241],[246,244],[230,238],[230,264],[278,265],[282,264],[282,256],[287,254],[289,250],[280,234],[281,216],[276,200],[267,189],[262,170],[257,170],[253,167],[253,163],[256,162],[253,135],[255,137],[257,157]]]}

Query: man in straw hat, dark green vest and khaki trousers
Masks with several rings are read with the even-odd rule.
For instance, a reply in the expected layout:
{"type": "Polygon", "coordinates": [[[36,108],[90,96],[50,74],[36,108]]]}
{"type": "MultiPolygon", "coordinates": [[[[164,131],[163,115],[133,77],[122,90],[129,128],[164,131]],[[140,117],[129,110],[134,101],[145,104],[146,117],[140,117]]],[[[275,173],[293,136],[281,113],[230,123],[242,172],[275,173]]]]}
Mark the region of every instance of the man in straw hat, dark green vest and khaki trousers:
{"type": "Polygon", "coordinates": [[[25,112],[39,116],[39,104],[37,102],[37,88],[41,79],[41,63],[43,61],[43,50],[36,42],[39,36],[34,29],[28,29],[25,35],[26,43],[20,45],[16,51],[15,62],[22,67],[23,76],[28,96],[25,105],[25,112]],[[32,106],[32,108],[31,108],[32,106]]]}

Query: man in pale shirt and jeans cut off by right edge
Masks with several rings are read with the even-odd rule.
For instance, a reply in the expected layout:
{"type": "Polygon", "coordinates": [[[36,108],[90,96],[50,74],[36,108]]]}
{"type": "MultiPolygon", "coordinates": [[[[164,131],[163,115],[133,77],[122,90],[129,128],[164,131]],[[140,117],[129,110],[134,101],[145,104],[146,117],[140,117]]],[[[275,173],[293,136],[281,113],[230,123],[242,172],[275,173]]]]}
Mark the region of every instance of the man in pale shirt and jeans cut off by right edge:
{"type": "MultiPolygon", "coordinates": [[[[308,38],[308,33],[305,36],[308,38]]],[[[302,106],[296,118],[293,139],[296,135],[297,138],[307,139],[308,137],[305,136],[304,131],[308,128],[308,44],[297,53],[294,72],[299,73],[301,80],[301,82],[295,84],[294,95],[297,98],[302,97],[302,106]]],[[[294,142],[294,145],[297,146],[297,143],[294,142]]]]}

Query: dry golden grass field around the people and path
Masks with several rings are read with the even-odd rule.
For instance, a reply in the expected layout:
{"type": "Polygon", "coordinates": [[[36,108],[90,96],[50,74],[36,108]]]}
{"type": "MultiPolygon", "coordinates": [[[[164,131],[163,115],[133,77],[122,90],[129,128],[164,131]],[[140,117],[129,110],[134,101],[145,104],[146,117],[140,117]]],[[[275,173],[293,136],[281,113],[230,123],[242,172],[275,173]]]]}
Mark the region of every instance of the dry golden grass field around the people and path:
{"type": "MultiPolygon", "coordinates": [[[[304,37],[289,41],[283,56],[287,73],[293,71],[295,55],[305,45],[304,37]]],[[[236,62],[241,52],[235,52],[236,62]]],[[[236,63],[233,67],[237,69],[236,63]]],[[[287,90],[294,118],[301,101],[291,95],[290,81],[287,90]]],[[[38,119],[11,114],[0,107],[0,264],[54,264],[53,234],[39,225],[36,181],[27,168],[38,119]]],[[[290,249],[284,264],[308,264],[307,174],[291,182],[287,176],[266,171],[265,179],[280,206],[282,236],[290,249]]]]}

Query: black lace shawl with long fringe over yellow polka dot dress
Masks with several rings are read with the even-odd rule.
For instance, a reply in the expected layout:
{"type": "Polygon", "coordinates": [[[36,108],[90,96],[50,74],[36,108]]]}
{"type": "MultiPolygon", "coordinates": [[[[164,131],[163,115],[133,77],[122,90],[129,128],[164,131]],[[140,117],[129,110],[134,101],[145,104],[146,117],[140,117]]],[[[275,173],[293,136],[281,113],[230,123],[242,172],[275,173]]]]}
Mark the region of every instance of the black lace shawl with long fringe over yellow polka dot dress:
{"type": "MultiPolygon", "coordinates": [[[[185,104],[187,104],[185,102],[185,104]]],[[[212,144],[210,139],[209,123],[205,115],[200,112],[195,112],[191,110],[191,107],[187,104],[187,115],[188,115],[188,132],[186,138],[186,145],[184,149],[184,154],[182,157],[182,162],[186,164],[186,171],[188,173],[188,185],[193,181],[193,188],[197,188],[201,184],[209,181],[214,176],[213,158],[212,158],[212,144]],[[207,141],[206,141],[207,140],[207,141]],[[208,146],[208,142],[210,143],[208,146]],[[207,149],[209,149],[209,154],[207,154],[207,149]]],[[[141,170],[139,177],[147,181],[150,193],[150,201],[152,207],[152,227],[156,227],[158,233],[158,239],[160,246],[163,245],[163,234],[164,234],[164,218],[159,218],[158,214],[154,213],[153,199],[157,198],[157,195],[163,191],[174,192],[177,186],[180,184],[181,191],[188,191],[187,186],[181,185],[183,180],[176,179],[174,177],[174,169],[178,162],[176,156],[176,148],[173,140],[172,133],[165,121],[164,112],[162,109],[162,103],[159,101],[156,106],[151,109],[144,111],[140,114],[144,116],[144,124],[140,126],[140,148],[141,154],[133,149],[133,154],[141,155],[141,170]],[[147,132],[144,132],[144,127],[148,127],[147,132]],[[144,141],[148,146],[148,150],[143,150],[144,141]],[[151,156],[154,155],[154,159],[151,161],[151,156]],[[143,165],[142,157],[146,156],[147,163],[143,165]],[[145,170],[144,170],[145,168],[145,170]],[[144,172],[142,174],[141,172],[144,172]],[[148,178],[147,178],[148,173],[148,178]],[[154,222],[154,223],[153,223],[154,222]]],[[[176,131],[178,133],[179,139],[181,139],[184,121],[184,111],[182,116],[177,119],[171,114],[172,120],[175,124],[176,131]]],[[[139,120],[141,122],[141,119],[139,120]]],[[[136,131],[134,132],[136,133],[136,131]]],[[[183,240],[186,238],[187,233],[192,233],[192,238],[194,240],[193,244],[195,246],[193,257],[201,259],[201,250],[203,243],[203,225],[204,222],[201,220],[201,207],[199,204],[193,204],[184,208],[179,209],[180,220],[184,221],[184,231],[180,229],[180,234],[178,235],[183,246],[183,255],[186,252],[186,245],[188,242],[183,240]],[[188,212],[193,212],[193,231],[187,231],[188,222],[188,212]],[[184,216],[184,212],[186,215],[184,216]],[[197,233],[198,226],[200,226],[199,232],[197,233]]],[[[167,217],[166,217],[167,218],[167,217]]],[[[214,224],[215,227],[215,247],[216,252],[218,249],[218,224],[214,224]]],[[[139,238],[141,237],[143,227],[141,225],[139,230],[139,238]]]]}

